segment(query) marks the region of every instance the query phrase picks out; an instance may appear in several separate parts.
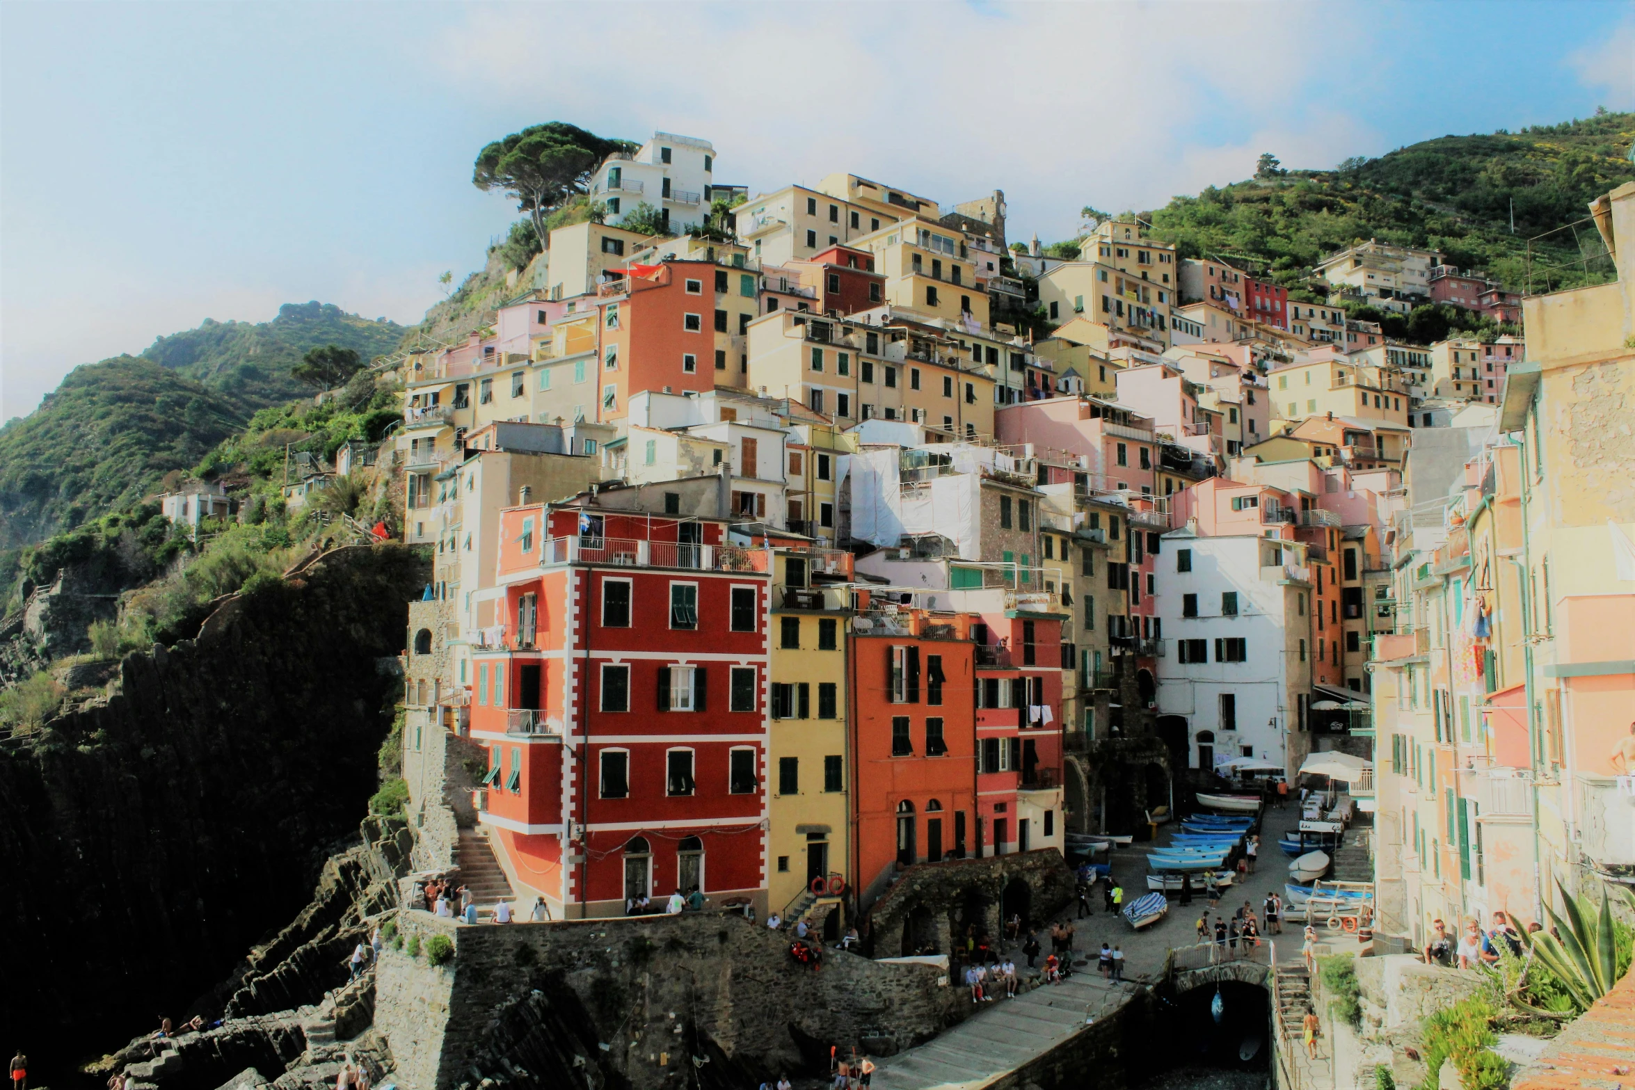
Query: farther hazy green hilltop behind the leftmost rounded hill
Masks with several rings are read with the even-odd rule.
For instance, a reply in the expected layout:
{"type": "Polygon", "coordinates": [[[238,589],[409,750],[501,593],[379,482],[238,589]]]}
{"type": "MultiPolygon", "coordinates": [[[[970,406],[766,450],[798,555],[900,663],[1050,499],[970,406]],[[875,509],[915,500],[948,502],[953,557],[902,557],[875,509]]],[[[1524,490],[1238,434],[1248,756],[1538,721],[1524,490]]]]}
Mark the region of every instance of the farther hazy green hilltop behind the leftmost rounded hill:
{"type": "Polygon", "coordinates": [[[245,413],[311,395],[289,377],[309,348],[340,345],[365,360],[397,348],[404,327],[361,319],[329,302],[286,302],[271,322],[214,322],[155,340],[147,360],[231,399],[245,413]]]}

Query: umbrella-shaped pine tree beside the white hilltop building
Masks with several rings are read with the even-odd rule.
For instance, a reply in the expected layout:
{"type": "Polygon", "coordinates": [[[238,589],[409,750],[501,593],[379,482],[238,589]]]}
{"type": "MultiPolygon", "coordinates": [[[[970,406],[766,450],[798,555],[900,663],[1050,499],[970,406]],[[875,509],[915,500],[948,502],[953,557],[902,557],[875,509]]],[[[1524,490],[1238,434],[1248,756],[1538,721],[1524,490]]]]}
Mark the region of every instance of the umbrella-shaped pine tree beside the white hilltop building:
{"type": "Polygon", "coordinates": [[[512,132],[477,152],[471,185],[499,190],[528,212],[535,237],[549,234],[544,217],[585,191],[590,173],[613,152],[636,150],[629,141],[610,141],[566,121],[548,121],[512,132]]]}

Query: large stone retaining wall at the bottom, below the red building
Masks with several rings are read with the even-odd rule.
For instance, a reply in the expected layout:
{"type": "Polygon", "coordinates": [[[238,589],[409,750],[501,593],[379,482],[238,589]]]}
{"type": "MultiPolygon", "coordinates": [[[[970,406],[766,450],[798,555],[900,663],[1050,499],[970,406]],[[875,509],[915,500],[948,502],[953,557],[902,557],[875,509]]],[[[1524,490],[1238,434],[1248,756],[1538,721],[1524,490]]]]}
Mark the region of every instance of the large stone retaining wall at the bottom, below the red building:
{"type": "Polygon", "coordinates": [[[518,1057],[536,1085],[755,1085],[826,1072],[829,1044],[896,1052],[970,1007],[934,966],[829,951],[813,972],[732,914],[463,927],[405,910],[399,927],[455,943],[440,967],[407,945],[381,959],[374,1026],[405,1090],[513,1082],[518,1057]]]}

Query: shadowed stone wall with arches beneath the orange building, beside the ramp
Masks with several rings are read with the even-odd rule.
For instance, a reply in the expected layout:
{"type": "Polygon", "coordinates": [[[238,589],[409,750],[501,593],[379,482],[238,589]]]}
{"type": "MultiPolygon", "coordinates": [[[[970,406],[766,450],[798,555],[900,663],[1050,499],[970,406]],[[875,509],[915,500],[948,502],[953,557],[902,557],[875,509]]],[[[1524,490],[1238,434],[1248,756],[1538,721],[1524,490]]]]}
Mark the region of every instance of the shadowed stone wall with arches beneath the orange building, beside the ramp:
{"type": "Polygon", "coordinates": [[[968,927],[999,935],[1007,912],[1024,923],[1046,918],[1073,899],[1073,887],[1074,874],[1056,848],[919,863],[870,905],[868,941],[876,958],[916,953],[924,943],[947,954],[968,927]]]}

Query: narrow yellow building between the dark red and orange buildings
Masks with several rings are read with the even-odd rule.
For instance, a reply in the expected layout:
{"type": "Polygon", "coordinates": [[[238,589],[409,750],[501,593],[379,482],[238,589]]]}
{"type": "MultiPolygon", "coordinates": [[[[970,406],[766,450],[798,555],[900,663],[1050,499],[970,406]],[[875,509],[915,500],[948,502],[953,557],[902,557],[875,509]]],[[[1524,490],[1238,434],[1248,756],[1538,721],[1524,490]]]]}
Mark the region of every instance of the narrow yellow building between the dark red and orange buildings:
{"type": "Polygon", "coordinates": [[[808,918],[839,938],[839,897],[813,882],[852,881],[847,858],[849,763],[845,641],[852,623],[852,556],[777,549],[770,554],[772,742],[768,905],[786,920],[808,918]]]}

